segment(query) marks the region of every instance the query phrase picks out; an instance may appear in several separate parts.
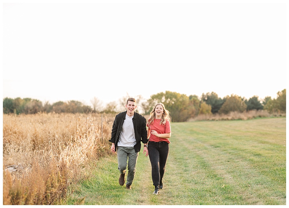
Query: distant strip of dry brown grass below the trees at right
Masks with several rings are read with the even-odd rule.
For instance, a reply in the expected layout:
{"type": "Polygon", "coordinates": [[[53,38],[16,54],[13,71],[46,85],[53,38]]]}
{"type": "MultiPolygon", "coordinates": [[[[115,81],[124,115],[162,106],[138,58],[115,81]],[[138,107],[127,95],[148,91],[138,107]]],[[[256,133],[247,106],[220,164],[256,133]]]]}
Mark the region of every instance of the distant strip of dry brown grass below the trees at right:
{"type": "Polygon", "coordinates": [[[254,118],[262,117],[286,117],[286,113],[268,113],[266,110],[252,110],[248,112],[230,112],[229,114],[200,114],[194,118],[189,119],[188,121],[203,121],[203,120],[249,120],[254,118]]]}

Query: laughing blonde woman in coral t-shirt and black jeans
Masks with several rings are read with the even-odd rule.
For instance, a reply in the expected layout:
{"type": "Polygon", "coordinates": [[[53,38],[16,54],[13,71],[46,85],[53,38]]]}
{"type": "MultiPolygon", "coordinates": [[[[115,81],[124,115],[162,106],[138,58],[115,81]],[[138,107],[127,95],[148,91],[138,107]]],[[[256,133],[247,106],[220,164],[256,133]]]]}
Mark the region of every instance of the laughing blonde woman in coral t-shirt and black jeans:
{"type": "Polygon", "coordinates": [[[155,186],[153,194],[159,194],[160,189],[163,188],[162,179],[168,159],[169,143],[171,143],[168,140],[171,137],[170,120],[169,112],[162,103],[155,105],[147,120],[147,138],[149,139],[147,148],[151,161],[151,177],[155,186]]]}

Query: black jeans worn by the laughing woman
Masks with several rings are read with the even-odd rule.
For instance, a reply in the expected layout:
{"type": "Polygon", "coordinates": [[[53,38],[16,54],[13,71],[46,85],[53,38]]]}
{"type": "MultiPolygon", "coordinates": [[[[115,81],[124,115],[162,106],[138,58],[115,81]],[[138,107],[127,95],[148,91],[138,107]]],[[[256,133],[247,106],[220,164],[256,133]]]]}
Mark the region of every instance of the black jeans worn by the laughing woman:
{"type": "Polygon", "coordinates": [[[147,145],[151,161],[151,178],[153,185],[160,185],[164,177],[166,161],[168,160],[169,144],[167,142],[150,142],[147,145]]]}

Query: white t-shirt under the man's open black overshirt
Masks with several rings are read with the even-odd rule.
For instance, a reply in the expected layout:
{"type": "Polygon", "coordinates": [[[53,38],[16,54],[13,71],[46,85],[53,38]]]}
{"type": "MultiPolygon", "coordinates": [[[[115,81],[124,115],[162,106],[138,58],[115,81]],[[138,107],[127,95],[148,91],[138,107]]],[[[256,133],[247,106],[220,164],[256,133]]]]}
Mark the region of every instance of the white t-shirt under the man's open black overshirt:
{"type": "Polygon", "coordinates": [[[123,127],[119,135],[117,146],[133,147],[136,145],[136,137],[134,135],[134,123],[132,122],[134,116],[128,116],[125,114],[125,120],[123,127]]]}

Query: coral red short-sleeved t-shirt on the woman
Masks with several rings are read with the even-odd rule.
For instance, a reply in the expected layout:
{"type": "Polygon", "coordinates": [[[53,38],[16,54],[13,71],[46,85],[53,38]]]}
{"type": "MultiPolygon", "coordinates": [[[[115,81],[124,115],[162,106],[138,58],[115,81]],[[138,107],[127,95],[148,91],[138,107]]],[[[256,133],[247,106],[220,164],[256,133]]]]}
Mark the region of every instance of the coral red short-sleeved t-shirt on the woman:
{"type": "MultiPolygon", "coordinates": [[[[170,133],[171,132],[171,124],[168,120],[166,120],[166,124],[160,125],[161,119],[154,119],[151,124],[147,124],[147,127],[151,130],[155,130],[159,134],[163,133],[170,133]]],[[[149,141],[152,142],[168,142],[171,143],[168,138],[160,138],[157,137],[156,135],[151,134],[149,136],[149,141]]]]}

